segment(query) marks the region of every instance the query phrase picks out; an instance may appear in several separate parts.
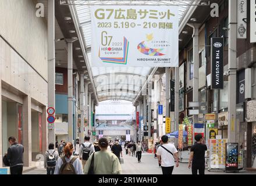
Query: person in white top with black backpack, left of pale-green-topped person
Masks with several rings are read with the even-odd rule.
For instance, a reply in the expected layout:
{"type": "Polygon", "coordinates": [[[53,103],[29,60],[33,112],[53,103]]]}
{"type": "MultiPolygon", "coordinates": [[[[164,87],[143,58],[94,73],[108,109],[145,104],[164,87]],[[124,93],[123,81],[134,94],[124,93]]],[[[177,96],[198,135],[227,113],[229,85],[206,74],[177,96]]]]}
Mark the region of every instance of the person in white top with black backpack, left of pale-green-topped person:
{"type": "Polygon", "coordinates": [[[90,137],[86,135],[84,137],[84,143],[81,144],[79,150],[79,158],[82,160],[83,169],[86,166],[86,161],[90,157],[90,155],[95,152],[93,144],[90,143],[90,137]]]}

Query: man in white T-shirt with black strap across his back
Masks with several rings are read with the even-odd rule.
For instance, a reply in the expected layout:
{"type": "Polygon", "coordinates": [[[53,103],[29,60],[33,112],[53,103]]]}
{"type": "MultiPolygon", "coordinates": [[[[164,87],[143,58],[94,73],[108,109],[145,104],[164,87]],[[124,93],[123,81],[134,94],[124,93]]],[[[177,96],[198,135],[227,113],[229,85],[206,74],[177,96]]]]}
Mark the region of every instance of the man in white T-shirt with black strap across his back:
{"type": "Polygon", "coordinates": [[[168,136],[163,135],[161,138],[163,144],[157,149],[157,158],[161,164],[163,174],[172,174],[173,167],[179,167],[178,151],[174,145],[168,144],[168,136]]]}

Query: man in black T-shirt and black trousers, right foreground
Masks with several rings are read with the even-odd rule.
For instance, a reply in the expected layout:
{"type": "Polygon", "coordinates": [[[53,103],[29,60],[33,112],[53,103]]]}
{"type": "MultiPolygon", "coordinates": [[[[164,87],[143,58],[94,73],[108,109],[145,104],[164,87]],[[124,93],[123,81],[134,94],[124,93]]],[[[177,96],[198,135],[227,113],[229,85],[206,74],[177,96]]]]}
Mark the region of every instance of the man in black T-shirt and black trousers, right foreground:
{"type": "Polygon", "coordinates": [[[189,169],[191,167],[192,161],[192,174],[204,174],[205,170],[205,151],[207,151],[207,146],[204,144],[204,139],[201,134],[195,135],[196,144],[191,146],[190,158],[189,158],[189,169]]]}

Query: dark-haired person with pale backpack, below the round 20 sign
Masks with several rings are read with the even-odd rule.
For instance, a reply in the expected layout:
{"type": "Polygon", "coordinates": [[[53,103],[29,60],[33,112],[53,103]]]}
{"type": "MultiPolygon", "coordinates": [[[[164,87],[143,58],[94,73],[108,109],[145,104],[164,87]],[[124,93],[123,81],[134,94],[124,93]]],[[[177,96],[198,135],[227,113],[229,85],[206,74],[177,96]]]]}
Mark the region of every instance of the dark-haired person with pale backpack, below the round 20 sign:
{"type": "Polygon", "coordinates": [[[47,170],[47,174],[54,174],[58,158],[59,153],[55,151],[54,144],[49,144],[48,151],[45,152],[44,158],[44,169],[47,170]]]}

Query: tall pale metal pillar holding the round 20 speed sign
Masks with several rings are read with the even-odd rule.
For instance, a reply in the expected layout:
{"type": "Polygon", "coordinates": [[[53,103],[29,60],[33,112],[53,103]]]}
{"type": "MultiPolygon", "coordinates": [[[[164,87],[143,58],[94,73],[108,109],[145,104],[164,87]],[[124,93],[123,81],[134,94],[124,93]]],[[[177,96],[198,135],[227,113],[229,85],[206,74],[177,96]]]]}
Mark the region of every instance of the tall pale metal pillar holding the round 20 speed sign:
{"type": "MultiPolygon", "coordinates": [[[[55,108],[55,1],[48,1],[48,107],[55,108]]],[[[55,130],[48,130],[48,142],[55,145],[55,130]]]]}

